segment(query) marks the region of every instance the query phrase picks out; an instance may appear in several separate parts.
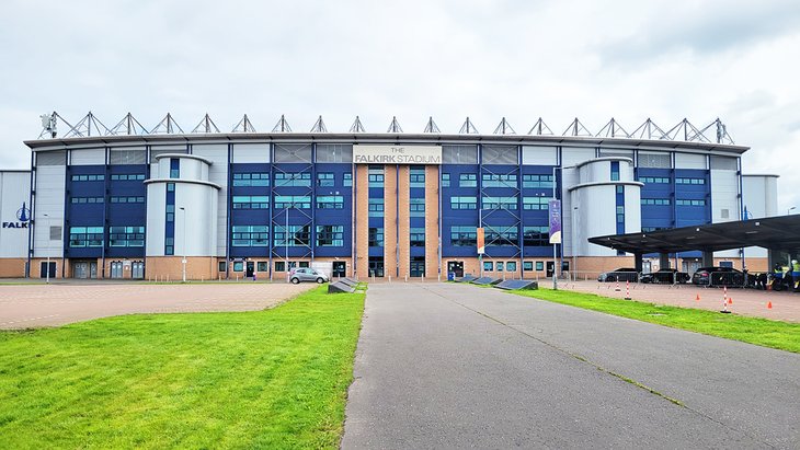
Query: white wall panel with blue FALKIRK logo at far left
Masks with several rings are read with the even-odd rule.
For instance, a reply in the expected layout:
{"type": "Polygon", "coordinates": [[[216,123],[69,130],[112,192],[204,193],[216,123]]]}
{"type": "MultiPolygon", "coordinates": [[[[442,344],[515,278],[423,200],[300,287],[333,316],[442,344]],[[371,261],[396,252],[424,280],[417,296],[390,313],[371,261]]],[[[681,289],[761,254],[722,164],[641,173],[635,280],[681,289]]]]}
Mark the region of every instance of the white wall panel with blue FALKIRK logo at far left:
{"type": "Polygon", "coordinates": [[[0,228],[0,257],[27,256],[30,196],[31,172],[0,172],[0,221],[3,222],[3,228],[0,228]],[[23,204],[27,208],[25,221],[21,221],[16,214],[23,204]]]}

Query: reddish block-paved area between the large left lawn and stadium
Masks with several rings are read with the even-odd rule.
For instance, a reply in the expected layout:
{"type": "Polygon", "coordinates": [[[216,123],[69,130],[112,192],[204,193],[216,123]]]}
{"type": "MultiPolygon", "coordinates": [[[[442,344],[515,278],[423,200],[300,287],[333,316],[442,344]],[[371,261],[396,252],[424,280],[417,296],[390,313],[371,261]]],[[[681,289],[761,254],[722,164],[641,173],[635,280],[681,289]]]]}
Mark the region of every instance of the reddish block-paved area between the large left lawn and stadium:
{"type": "Polygon", "coordinates": [[[55,326],[134,313],[256,311],[316,286],[248,281],[0,285],[0,328],[55,326]]]}

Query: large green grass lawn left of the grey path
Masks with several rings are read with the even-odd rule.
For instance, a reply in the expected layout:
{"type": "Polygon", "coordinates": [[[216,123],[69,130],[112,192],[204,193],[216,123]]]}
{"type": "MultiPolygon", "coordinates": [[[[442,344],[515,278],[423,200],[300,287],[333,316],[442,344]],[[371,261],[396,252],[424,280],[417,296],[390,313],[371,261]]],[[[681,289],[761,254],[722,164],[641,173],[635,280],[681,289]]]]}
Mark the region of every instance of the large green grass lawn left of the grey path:
{"type": "Polygon", "coordinates": [[[364,311],[272,310],[0,333],[0,448],[336,448],[364,311]]]}

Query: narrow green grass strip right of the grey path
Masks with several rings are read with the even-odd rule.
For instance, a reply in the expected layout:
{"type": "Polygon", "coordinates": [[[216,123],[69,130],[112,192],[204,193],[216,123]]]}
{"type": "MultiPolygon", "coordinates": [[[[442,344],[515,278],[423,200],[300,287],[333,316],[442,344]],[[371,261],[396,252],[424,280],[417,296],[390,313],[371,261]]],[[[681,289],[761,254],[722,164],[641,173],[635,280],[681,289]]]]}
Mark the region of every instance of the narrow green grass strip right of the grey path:
{"type": "Polygon", "coordinates": [[[764,347],[800,353],[800,324],[796,323],[735,314],[720,314],[715,311],[665,307],[565,290],[538,289],[513,292],[673,328],[688,330],[764,347]]]}

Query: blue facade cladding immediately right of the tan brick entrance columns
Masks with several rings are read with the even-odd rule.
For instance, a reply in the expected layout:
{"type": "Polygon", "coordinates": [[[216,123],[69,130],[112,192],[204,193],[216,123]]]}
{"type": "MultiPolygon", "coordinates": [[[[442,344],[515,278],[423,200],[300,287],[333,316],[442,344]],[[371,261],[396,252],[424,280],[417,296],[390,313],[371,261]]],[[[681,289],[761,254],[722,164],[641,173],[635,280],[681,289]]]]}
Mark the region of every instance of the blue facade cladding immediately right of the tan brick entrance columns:
{"type": "MultiPolygon", "coordinates": [[[[450,187],[442,187],[442,256],[443,257],[476,257],[478,247],[475,245],[460,246],[453,245],[450,240],[452,227],[466,226],[478,228],[479,208],[480,208],[480,189],[477,178],[480,166],[478,164],[443,164],[442,173],[450,175],[450,187]],[[475,186],[461,187],[459,183],[460,175],[472,174],[476,176],[475,186]],[[475,197],[475,209],[454,209],[453,197],[475,197]]],[[[428,243],[425,243],[428,245],[428,243]]]]}

